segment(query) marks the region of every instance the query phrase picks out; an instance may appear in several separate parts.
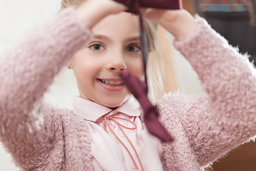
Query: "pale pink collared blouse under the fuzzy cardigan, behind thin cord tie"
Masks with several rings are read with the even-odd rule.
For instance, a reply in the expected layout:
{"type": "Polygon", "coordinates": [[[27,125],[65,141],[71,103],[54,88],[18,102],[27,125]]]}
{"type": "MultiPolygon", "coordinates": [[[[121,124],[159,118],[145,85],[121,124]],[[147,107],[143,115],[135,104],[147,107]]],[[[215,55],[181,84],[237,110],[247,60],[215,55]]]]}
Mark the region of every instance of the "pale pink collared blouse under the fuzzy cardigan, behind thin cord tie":
{"type": "MultiPolygon", "coordinates": [[[[92,135],[92,151],[94,157],[94,168],[97,171],[114,171],[114,170],[137,170],[135,164],[127,153],[124,146],[111,132],[106,125],[106,133],[103,130],[102,123],[106,114],[113,115],[118,112],[117,117],[129,119],[137,125],[135,130],[122,130],[134,145],[144,170],[163,170],[162,166],[162,146],[160,140],[147,132],[145,124],[141,122],[141,108],[138,101],[131,96],[126,102],[120,105],[116,110],[112,110],[106,106],[102,106],[93,101],[85,100],[80,97],[74,97],[74,112],[87,120],[89,131],[92,135]]],[[[127,127],[134,127],[129,121],[116,119],[119,123],[127,127]]],[[[117,124],[108,120],[111,129],[118,138],[125,144],[133,156],[138,168],[142,171],[141,165],[129,141],[120,131],[117,124]]]]}

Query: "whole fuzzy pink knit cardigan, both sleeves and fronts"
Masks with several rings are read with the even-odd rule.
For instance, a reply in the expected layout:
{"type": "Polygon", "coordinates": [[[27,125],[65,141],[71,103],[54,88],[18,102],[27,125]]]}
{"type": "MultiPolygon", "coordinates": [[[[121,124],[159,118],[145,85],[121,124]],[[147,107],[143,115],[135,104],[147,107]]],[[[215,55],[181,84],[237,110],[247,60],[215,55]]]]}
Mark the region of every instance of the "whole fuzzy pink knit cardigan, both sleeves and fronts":
{"type": "MultiPolygon", "coordinates": [[[[198,17],[198,28],[174,46],[191,63],[205,96],[167,94],[160,121],[175,141],[162,143],[166,170],[200,170],[256,134],[256,74],[245,55],[198,17]]],[[[41,97],[91,32],[74,9],[5,53],[0,67],[0,140],[25,170],[93,170],[91,135],[73,111],[41,97]]]]}

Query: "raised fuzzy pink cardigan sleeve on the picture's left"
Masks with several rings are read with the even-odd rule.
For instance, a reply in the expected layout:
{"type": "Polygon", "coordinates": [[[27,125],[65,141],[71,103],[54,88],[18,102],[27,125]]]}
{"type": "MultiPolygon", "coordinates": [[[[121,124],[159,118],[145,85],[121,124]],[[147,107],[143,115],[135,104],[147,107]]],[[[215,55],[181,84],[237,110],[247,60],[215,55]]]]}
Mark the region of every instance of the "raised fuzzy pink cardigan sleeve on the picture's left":
{"type": "Polygon", "coordinates": [[[74,11],[62,10],[32,30],[0,62],[0,140],[25,170],[42,164],[54,132],[61,129],[41,98],[54,76],[91,38],[86,25],[76,22],[74,11]]]}

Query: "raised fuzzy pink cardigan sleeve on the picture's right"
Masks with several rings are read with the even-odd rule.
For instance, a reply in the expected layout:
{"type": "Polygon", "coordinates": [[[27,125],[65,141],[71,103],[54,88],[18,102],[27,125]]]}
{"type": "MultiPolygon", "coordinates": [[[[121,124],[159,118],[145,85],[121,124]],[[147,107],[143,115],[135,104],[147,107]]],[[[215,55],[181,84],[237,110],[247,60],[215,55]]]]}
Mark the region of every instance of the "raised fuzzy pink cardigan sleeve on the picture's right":
{"type": "Polygon", "coordinates": [[[256,72],[246,54],[204,19],[197,22],[196,32],[174,46],[197,72],[207,96],[166,96],[159,104],[168,104],[179,117],[199,165],[205,166],[256,135],[256,72]]]}

